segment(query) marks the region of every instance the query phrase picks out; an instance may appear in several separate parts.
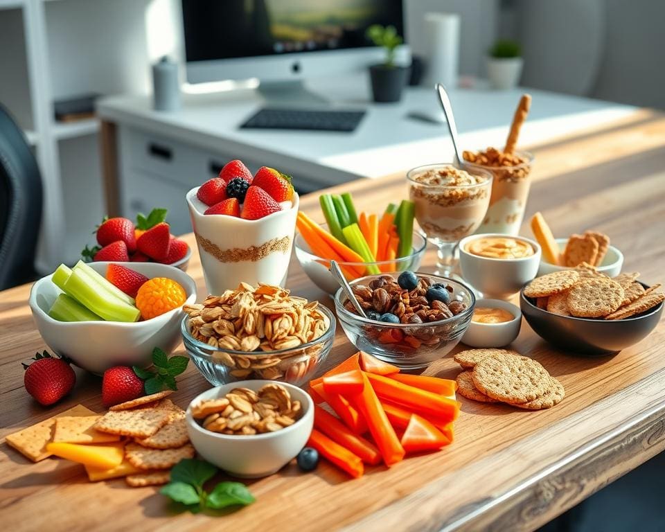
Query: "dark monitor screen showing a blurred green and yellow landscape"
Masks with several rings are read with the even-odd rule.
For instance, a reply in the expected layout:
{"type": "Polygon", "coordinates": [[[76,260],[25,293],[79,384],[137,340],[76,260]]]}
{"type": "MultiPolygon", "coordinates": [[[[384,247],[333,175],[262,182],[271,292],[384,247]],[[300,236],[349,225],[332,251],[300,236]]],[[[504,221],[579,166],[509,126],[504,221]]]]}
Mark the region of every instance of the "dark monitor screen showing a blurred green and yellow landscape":
{"type": "Polygon", "coordinates": [[[187,62],[373,46],[371,24],[402,30],[401,0],[182,0],[187,62]]]}

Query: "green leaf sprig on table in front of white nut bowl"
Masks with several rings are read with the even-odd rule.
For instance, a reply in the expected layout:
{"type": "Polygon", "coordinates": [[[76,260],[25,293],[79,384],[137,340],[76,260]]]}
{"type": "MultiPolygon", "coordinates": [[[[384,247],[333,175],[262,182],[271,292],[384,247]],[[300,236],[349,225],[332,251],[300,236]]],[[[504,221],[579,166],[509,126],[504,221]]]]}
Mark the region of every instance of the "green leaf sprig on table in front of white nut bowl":
{"type": "Polygon", "coordinates": [[[211,492],[206,492],[204,484],[217,472],[218,468],[206,461],[183,459],[172,468],[171,481],[159,493],[184,504],[191,512],[247,506],[256,500],[240,482],[220,482],[211,492]]]}

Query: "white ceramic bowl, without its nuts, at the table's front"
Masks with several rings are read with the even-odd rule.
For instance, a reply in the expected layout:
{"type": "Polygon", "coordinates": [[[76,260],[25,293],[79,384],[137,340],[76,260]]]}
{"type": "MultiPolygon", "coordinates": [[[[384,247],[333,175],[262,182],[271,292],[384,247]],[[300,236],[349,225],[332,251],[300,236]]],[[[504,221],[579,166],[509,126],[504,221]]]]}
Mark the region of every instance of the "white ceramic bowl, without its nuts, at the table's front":
{"type": "Polygon", "coordinates": [[[256,479],[267,477],[283,468],[305,447],[314,426],[314,402],[300,388],[286,382],[279,382],[299,400],[302,415],[296,423],[276,432],[234,436],[211,432],[199,425],[192,417],[192,405],[204,399],[223,397],[234,388],[249,388],[257,391],[265,384],[275,384],[272,380],[243,380],[204,391],[190,402],[187,408],[187,430],[192,445],[204,459],[236,477],[256,479]]]}

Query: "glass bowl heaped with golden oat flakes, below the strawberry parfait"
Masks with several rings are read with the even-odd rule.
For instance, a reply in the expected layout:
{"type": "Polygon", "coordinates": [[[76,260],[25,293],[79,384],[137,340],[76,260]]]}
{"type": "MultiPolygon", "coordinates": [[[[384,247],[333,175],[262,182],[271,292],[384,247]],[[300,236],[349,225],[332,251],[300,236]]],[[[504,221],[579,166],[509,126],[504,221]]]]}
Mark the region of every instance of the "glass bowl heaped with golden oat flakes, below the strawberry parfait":
{"type": "Polygon", "coordinates": [[[300,386],[313,377],[335,337],[328,308],[278,286],[240,283],[183,310],[185,348],[215,386],[249,379],[300,386]]]}

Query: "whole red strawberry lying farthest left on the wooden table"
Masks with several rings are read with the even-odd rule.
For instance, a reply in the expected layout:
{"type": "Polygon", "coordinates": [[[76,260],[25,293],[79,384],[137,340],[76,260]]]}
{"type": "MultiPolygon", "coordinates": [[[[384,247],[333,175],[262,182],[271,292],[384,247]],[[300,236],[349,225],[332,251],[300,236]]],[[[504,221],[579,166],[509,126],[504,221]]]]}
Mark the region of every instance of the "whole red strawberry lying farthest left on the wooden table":
{"type": "Polygon", "coordinates": [[[51,357],[46,351],[37,353],[35,362],[23,364],[26,373],[23,378],[26,391],[45,407],[53,405],[67,395],[74,387],[76,373],[69,362],[59,357],[51,357]]]}

